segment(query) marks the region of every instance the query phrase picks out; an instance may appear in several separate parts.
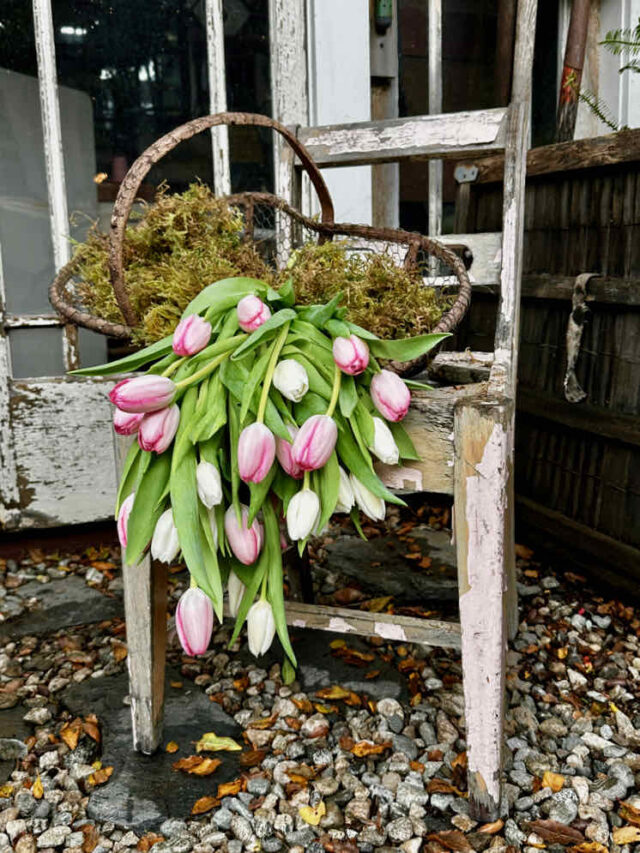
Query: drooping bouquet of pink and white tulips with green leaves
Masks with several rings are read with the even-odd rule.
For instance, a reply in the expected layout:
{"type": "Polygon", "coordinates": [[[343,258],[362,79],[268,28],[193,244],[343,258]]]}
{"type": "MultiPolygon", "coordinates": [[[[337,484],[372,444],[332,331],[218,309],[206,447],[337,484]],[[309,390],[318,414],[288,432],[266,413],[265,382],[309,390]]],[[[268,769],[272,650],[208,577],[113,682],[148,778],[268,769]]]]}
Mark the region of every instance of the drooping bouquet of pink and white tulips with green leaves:
{"type": "MultiPolygon", "coordinates": [[[[277,633],[292,676],[282,551],[300,553],[333,513],[385,516],[402,500],[382,483],[375,460],[416,459],[401,421],[409,381],[379,359],[408,361],[445,335],[382,340],[349,322],[341,295],[297,306],[291,282],[279,290],[230,278],[202,290],[174,333],[83,375],[143,374],[111,390],[114,428],[137,435],[117,497],[124,562],[147,548],[170,562],[182,552],[191,588],[176,611],[187,654],[202,654],[214,614],[247,622],[253,654],[277,633]]],[[[132,570],[132,569],[130,569],[132,570]]]]}

